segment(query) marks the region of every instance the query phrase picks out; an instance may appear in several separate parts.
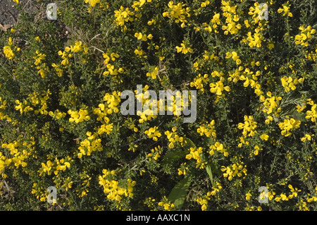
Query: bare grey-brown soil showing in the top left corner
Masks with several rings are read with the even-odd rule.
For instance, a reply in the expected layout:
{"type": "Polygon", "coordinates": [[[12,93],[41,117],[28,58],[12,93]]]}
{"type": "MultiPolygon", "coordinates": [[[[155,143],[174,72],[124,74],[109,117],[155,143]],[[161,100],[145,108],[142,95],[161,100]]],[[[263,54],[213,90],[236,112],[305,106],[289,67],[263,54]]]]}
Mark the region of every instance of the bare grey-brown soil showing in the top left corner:
{"type": "MultiPolygon", "coordinates": [[[[19,4],[27,13],[35,11],[35,2],[36,0],[19,0],[19,4]]],[[[13,0],[0,0],[0,30],[1,25],[8,27],[18,23],[19,11],[15,6],[13,0]]]]}

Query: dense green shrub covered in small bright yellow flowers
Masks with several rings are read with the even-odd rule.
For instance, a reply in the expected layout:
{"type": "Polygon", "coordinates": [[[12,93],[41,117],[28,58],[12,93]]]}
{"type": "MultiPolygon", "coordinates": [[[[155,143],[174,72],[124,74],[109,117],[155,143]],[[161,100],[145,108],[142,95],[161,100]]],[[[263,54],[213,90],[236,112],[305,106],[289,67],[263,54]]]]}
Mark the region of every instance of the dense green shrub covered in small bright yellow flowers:
{"type": "Polygon", "coordinates": [[[0,209],[317,209],[313,0],[15,2],[0,209]],[[196,121],[121,114],[137,85],[197,90],[196,121]]]}

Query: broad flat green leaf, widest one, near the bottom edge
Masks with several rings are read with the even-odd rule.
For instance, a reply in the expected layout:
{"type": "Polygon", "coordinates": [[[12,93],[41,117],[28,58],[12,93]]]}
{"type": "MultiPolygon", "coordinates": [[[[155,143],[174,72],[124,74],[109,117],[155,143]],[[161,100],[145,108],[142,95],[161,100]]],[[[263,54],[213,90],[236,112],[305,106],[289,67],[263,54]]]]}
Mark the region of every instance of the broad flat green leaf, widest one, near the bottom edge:
{"type": "Polygon", "coordinates": [[[174,203],[176,209],[182,208],[190,183],[191,181],[189,180],[189,177],[186,177],[178,182],[170,191],[170,195],[168,195],[168,200],[174,203]]]}

